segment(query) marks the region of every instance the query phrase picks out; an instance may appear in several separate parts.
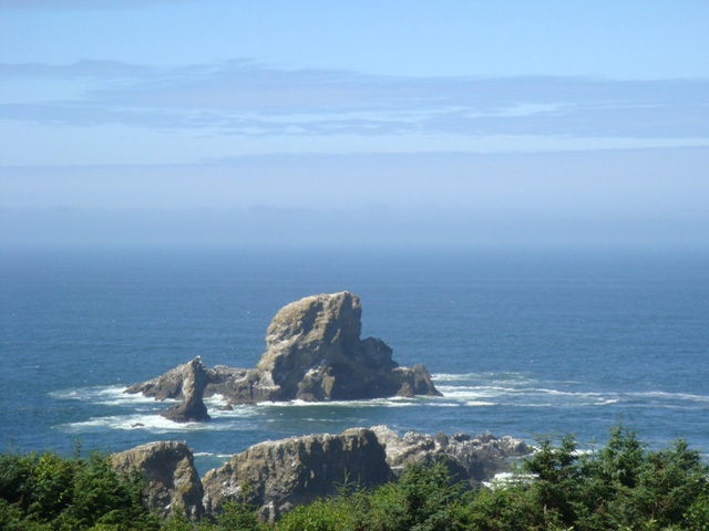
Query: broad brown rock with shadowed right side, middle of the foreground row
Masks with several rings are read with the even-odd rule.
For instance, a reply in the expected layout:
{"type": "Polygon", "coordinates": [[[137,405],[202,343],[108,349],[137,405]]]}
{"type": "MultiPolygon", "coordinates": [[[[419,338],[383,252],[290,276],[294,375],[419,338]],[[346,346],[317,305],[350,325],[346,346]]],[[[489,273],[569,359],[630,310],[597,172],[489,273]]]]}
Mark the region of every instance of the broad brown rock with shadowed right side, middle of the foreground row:
{"type": "Polygon", "coordinates": [[[295,506],[336,493],[338,483],[376,486],[392,477],[384,449],[369,429],[292,437],[251,446],[208,471],[204,507],[216,513],[226,499],[244,497],[273,522],[295,506]]]}

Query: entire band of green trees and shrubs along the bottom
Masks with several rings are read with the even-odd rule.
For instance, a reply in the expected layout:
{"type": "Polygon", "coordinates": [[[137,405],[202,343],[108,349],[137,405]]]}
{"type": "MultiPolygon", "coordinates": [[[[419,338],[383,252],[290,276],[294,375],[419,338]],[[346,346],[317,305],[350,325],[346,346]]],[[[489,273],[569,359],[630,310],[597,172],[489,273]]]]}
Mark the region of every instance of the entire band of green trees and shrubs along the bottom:
{"type": "MultiPolygon", "coordinates": [[[[265,531],[243,500],[214,522],[184,514],[160,522],[140,504],[142,485],[117,477],[106,458],[53,454],[0,457],[0,529],[265,531]]],[[[709,531],[709,466],[682,440],[648,450],[616,427],[599,450],[573,437],[543,438],[510,482],[466,490],[444,464],[411,466],[371,491],[341,486],[336,497],[298,507],[276,531],[709,531]]]]}

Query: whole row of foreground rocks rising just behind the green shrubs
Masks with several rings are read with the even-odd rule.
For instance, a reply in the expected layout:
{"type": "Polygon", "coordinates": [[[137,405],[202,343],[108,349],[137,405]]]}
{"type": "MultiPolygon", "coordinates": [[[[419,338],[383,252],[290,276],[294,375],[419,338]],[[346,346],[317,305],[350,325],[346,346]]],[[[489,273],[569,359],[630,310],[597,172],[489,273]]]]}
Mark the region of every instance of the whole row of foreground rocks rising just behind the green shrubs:
{"type": "Polygon", "coordinates": [[[151,442],[115,454],[112,461],[117,471],[143,476],[145,504],[163,517],[179,507],[198,519],[220,512],[226,500],[237,500],[273,522],[298,504],[337,493],[347,482],[383,485],[409,464],[443,461],[452,481],[472,487],[508,470],[510,458],[527,454],[530,448],[512,437],[413,431],[400,437],[377,426],[260,442],[209,470],[202,483],[184,442],[151,442]]]}

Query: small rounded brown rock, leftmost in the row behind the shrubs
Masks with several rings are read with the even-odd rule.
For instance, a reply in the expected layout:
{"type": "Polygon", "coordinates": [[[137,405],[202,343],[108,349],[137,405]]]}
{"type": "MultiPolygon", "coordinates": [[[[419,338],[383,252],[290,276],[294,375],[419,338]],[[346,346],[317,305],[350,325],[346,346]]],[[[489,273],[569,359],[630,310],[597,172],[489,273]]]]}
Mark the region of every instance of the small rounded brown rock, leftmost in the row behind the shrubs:
{"type": "Polygon", "coordinates": [[[119,473],[140,473],[147,483],[143,501],[148,509],[167,518],[183,508],[188,518],[204,514],[203,488],[194,466],[192,450],[185,442],[148,442],[111,456],[119,473]]]}

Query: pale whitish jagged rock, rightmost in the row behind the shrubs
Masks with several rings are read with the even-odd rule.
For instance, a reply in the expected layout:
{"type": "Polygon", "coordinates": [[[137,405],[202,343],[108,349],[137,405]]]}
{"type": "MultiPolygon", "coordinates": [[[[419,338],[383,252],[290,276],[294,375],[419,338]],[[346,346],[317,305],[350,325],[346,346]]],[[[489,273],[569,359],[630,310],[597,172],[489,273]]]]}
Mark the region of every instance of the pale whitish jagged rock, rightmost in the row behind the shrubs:
{"type": "Polygon", "coordinates": [[[492,479],[510,469],[510,459],[525,456],[531,448],[510,436],[499,439],[490,434],[471,437],[467,434],[435,437],[409,431],[400,437],[387,426],[372,428],[384,446],[387,464],[395,476],[413,462],[443,461],[453,481],[465,481],[471,487],[492,479]]]}

